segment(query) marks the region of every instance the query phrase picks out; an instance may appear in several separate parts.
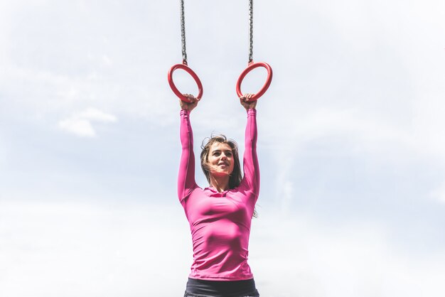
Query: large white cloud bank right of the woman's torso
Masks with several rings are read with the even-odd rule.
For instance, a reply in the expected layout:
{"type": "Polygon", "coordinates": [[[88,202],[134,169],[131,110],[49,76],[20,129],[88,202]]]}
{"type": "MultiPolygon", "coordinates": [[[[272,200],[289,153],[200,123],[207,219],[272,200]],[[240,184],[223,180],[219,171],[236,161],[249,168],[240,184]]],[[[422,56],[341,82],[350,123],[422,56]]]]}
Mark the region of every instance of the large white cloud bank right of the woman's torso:
{"type": "Polygon", "coordinates": [[[262,211],[250,264],[264,296],[443,296],[445,254],[419,254],[372,222],[326,222],[262,211]],[[328,223],[330,224],[330,223],[328,223]]]}

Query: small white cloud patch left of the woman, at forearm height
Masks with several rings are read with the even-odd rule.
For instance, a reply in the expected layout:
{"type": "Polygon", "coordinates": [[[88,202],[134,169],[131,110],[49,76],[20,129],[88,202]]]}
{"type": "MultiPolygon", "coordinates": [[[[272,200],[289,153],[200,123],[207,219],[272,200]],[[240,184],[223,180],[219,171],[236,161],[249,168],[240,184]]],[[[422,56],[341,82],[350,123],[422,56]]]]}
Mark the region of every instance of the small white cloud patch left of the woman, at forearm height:
{"type": "Polygon", "coordinates": [[[94,137],[96,131],[92,122],[113,123],[117,118],[112,114],[106,114],[99,109],[88,108],[78,114],[73,114],[68,119],[59,121],[59,128],[77,136],[94,137]]]}

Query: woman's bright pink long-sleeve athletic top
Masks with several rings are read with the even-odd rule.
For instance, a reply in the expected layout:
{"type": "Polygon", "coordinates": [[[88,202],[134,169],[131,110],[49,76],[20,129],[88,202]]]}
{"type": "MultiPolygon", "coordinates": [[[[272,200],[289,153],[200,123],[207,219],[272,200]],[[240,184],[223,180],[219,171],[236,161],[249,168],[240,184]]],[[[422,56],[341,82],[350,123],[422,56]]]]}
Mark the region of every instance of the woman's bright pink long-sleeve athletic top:
{"type": "Polygon", "coordinates": [[[200,188],[195,182],[190,112],[181,110],[178,198],[186,212],[193,241],[191,279],[253,279],[247,257],[250,225],[259,194],[256,115],[256,109],[247,111],[244,177],[237,188],[219,193],[214,188],[200,188]]]}

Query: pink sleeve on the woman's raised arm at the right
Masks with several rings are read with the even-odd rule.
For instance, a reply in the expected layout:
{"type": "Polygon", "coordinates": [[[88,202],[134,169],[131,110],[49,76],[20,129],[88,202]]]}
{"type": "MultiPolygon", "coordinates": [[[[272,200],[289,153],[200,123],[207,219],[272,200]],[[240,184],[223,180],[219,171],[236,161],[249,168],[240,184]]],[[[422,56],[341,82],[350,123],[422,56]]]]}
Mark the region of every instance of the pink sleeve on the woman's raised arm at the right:
{"type": "Polygon", "coordinates": [[[257,109],[247,110],[247,126],[244,151],[244,178],[242,183],[259,194],[259,164],[257,158],[257,109]]]}

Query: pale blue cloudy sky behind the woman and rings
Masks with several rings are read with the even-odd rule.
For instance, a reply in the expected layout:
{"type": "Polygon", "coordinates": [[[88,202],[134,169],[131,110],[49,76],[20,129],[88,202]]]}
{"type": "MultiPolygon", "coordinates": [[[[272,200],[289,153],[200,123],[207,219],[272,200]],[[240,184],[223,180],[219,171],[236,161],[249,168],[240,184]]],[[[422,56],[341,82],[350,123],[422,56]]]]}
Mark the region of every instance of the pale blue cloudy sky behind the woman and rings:
{"type": "MultiPolygon", "coordinates": [[[[195,152],[215,133],[243,151],[248,2],[185,7],[195,152]]],[[[0,0],[0,296],[182,296],[179,16],[0,0]]],[[[254,1],[253,58],[274,71],[257,105],[261,296],[444,296],[444,32],[439,0],[254,1]]]]}

